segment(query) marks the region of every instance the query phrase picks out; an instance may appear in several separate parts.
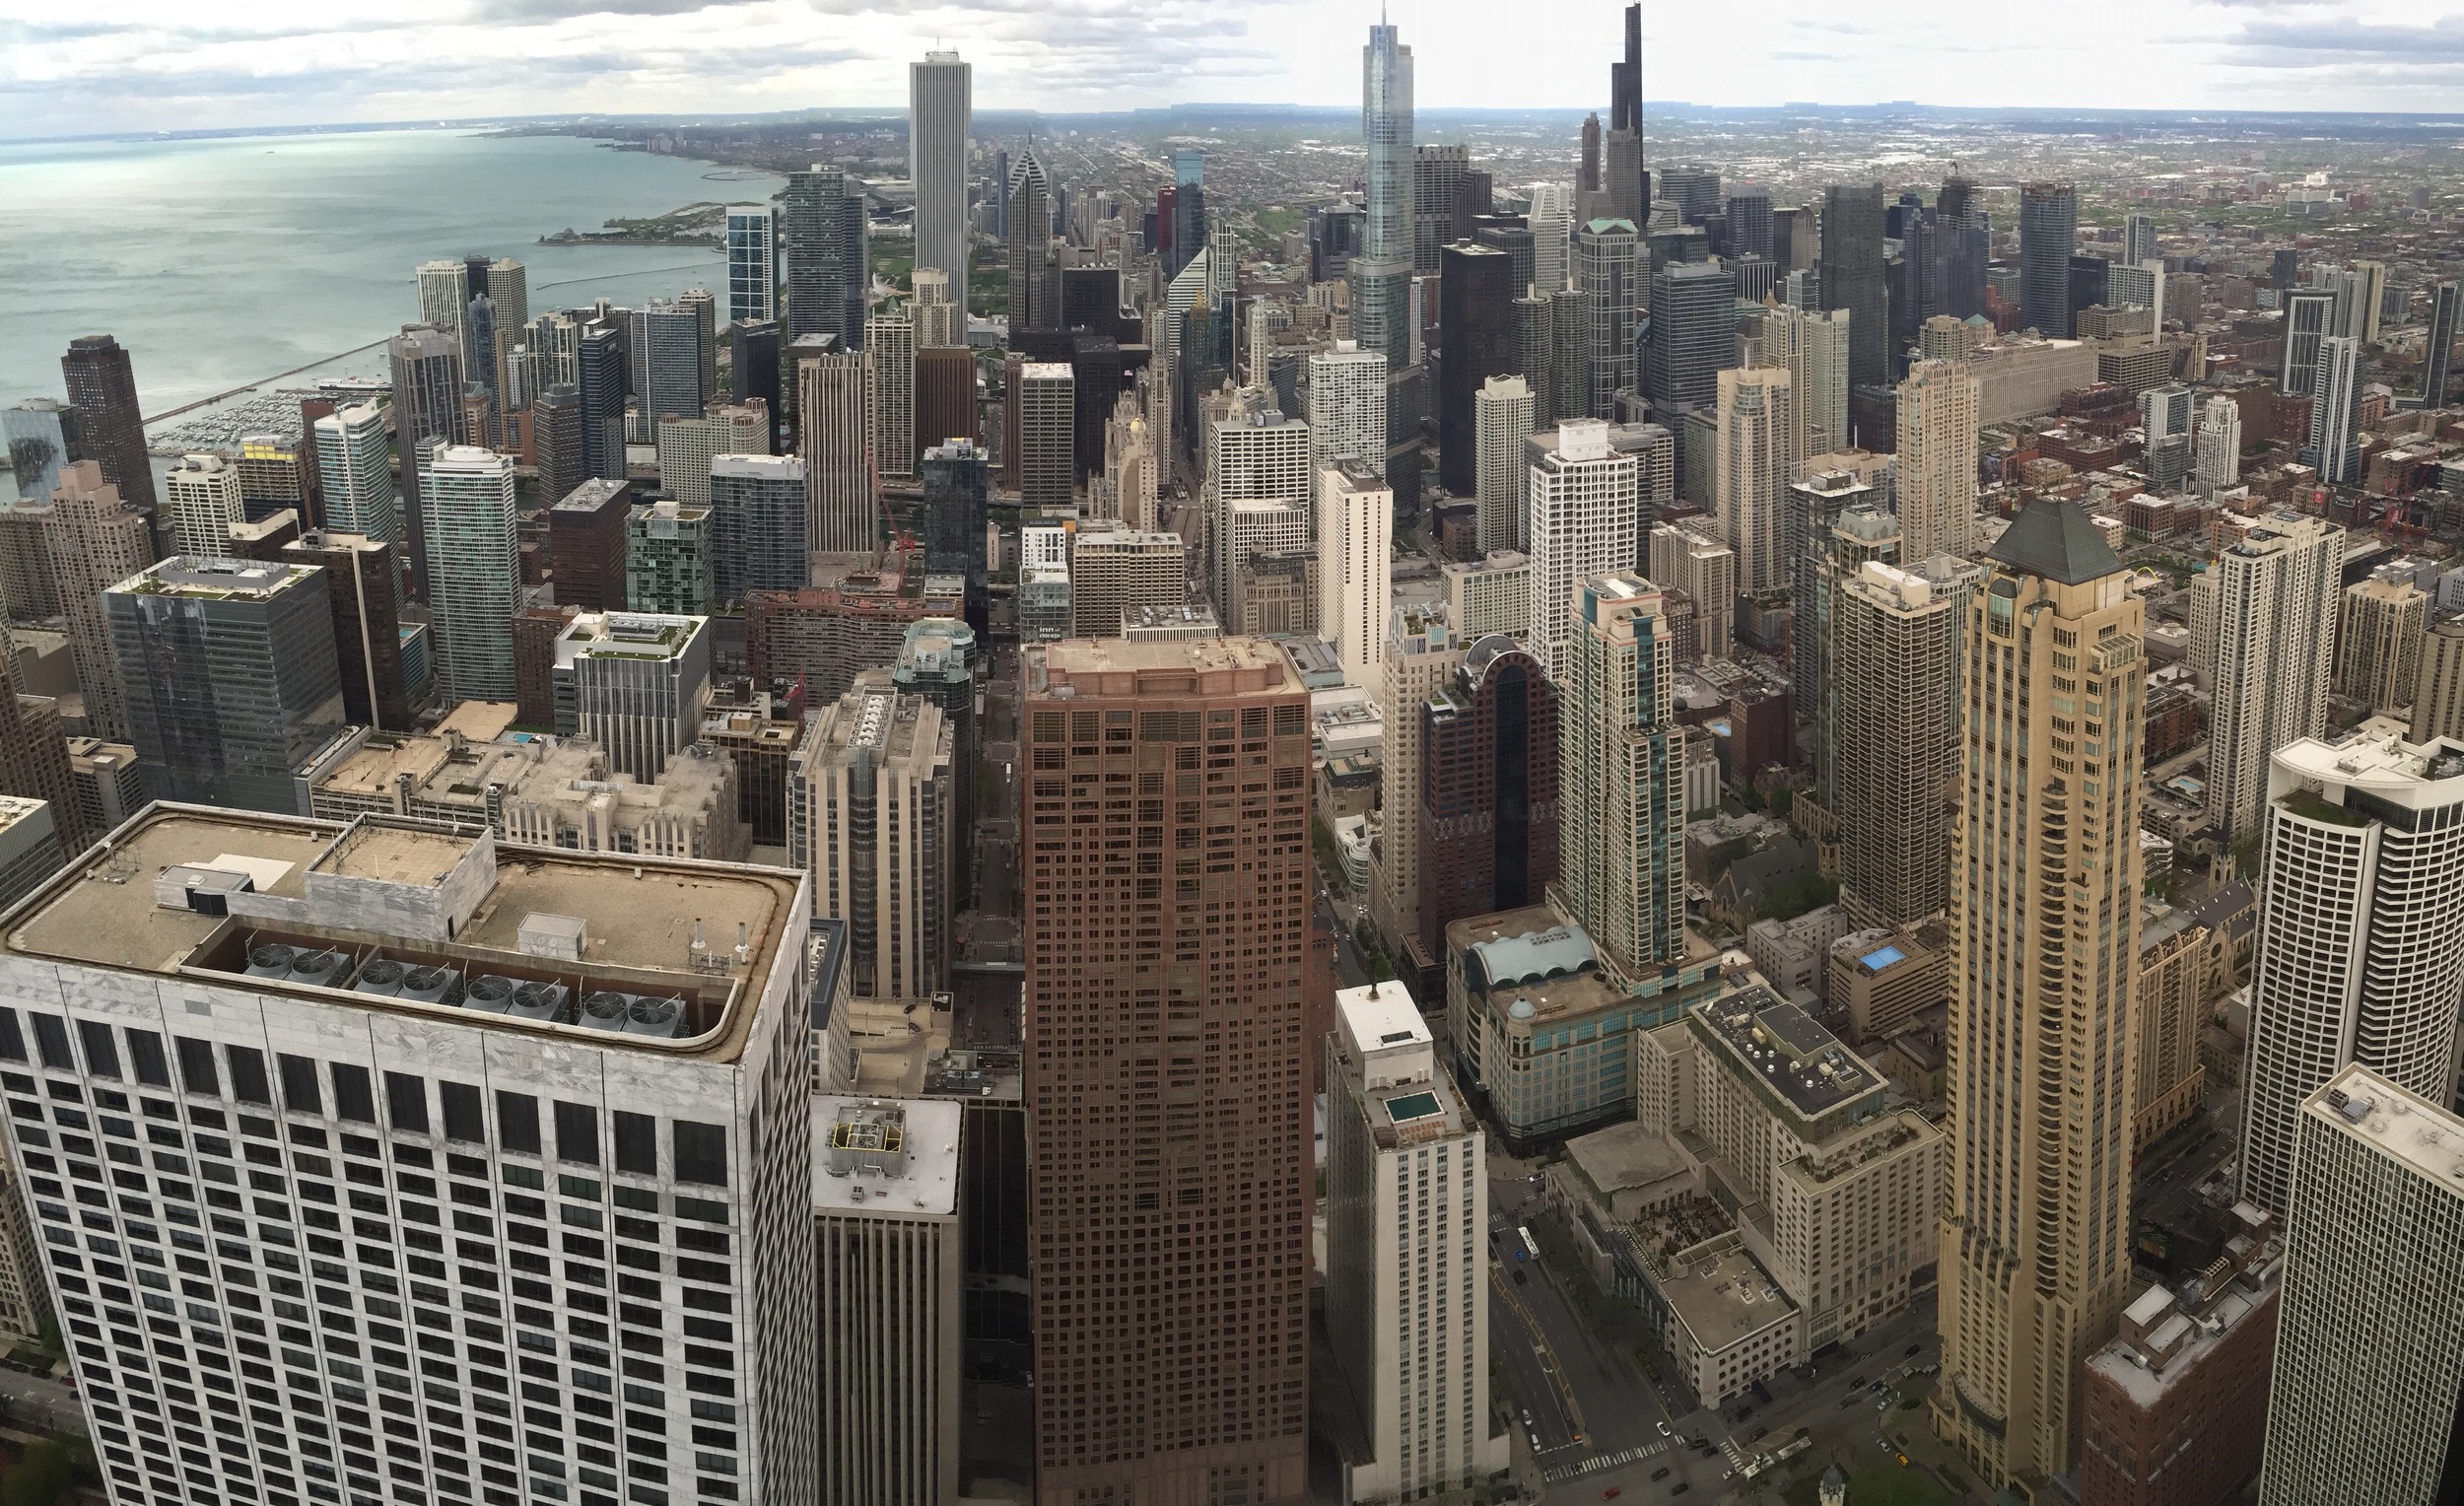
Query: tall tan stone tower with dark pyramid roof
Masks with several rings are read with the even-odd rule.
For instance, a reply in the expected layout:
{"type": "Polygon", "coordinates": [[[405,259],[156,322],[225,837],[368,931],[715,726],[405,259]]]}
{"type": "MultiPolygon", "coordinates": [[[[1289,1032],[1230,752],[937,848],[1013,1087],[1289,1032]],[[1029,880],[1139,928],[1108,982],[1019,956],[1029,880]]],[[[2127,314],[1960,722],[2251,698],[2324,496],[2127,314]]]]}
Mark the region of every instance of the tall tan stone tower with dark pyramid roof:
{"type": "Polygon", "coordinates": [[[1934,1430],[1988,1489],[2072,1469],[2080,1375],[2131,1274],[2144,609],[2038,500],[1969,599],[1951,845],[1951,1181],[1934,1430]]]}

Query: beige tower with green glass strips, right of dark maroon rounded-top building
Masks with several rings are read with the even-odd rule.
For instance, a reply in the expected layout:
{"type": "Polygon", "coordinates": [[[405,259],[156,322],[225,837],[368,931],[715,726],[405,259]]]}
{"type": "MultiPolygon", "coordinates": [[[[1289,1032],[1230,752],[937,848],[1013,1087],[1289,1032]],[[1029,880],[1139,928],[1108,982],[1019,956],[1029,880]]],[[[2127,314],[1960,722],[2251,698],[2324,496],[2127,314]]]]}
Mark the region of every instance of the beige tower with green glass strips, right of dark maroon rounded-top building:
{"type": "MultiPolygon", "coordinates": [[[[1668,601],[1636,569],[1574,589],[1557,680],[1557,897],[1621,983],[1685,956],[1685,739],[1668,601]]],[[[1427,858],[1424,858],[1427,860],[1427,858]]]]}

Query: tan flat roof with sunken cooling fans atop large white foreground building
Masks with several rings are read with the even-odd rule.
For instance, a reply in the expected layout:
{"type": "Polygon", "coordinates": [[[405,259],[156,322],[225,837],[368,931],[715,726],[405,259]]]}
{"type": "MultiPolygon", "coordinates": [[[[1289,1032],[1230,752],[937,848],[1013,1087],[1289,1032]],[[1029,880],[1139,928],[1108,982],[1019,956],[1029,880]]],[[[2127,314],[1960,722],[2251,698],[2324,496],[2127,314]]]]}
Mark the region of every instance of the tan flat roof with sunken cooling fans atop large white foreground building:
{"type": "Polygon", "coordinates": [[[44,959],[734,1060],[749,1001],[761,996],[788,927],[801,929],[798,890],[801,875],[752,865],[500,850],[485,831],[399,818],[340,823],[158,804],[27,900],[0,939],[0,976],[22,979],[27,959],[44,959]],[[582,939],[564,954],[542,951],[535,919],[579,922],[582,939]],[[732,961],[739,927],[749,956],[732,961]],[[241,976],[261,946],[340,951],[347,966],[323,983],[241,976]],[[456,981],[562,983],[574,1001],[599,991],[683,998],[685,1040],[372,993],[367,969],[377,964],[394,979],[436,966],[456,981]]]}

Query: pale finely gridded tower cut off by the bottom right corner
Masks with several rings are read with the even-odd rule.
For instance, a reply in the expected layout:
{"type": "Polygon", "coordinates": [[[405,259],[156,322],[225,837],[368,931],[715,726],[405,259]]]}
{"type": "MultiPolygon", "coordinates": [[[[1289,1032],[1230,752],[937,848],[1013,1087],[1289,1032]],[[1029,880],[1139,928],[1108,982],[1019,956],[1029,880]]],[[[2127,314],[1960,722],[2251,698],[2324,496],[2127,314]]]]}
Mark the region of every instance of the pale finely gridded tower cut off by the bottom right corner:
{"type": "Polygon", "coordinates": [[[2259,1506],[2442,1501],[2464,1395],[2464,1119],[2346,1067],[2294,1134],[2259,1506]]]}

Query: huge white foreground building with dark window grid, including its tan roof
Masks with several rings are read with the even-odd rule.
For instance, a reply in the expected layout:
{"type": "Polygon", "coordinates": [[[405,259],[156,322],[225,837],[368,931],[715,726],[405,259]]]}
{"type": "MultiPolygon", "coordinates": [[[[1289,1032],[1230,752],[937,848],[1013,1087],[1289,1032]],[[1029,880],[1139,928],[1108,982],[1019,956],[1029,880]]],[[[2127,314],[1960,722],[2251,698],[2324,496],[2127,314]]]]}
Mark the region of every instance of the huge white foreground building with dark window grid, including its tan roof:
{"type": "Polygon", "coordinates": [[[0,942],[113,1501],[821,1499],[801,875],[187,806],[116,853],[0,942]]]}

